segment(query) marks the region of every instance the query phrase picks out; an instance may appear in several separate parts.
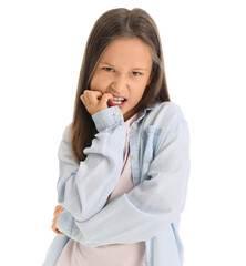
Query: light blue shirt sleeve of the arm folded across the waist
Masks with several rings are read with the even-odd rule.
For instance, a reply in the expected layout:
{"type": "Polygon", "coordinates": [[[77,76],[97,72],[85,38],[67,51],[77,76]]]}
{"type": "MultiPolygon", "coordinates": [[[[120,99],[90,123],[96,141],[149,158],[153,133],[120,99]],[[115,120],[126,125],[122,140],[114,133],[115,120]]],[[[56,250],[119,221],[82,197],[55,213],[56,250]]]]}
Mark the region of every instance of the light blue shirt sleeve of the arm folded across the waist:
{"type": "Polygon", "coordinates": [[[163,131],[145,180],[86,222],[64,211],[58,228],[85,246],[135,243],[157,235],[184,208],[189,175],[189,134],[183,119],[163,131]]]}

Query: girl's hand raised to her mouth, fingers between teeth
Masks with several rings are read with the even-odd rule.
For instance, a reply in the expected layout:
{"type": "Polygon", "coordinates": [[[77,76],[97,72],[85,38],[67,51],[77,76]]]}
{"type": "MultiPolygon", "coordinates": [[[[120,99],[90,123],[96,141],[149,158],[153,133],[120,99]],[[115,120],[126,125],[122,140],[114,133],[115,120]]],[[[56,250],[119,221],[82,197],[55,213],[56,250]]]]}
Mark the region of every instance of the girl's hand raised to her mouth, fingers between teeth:
{"type": "Polygon", "coordinates": [[[111,99],[113,101],[113,95],[111,93],[104,93],[100,91],[85,90],[80,96],[88,112],[93,115],[94,113],[107,109],[107,101],[111,99]]]}

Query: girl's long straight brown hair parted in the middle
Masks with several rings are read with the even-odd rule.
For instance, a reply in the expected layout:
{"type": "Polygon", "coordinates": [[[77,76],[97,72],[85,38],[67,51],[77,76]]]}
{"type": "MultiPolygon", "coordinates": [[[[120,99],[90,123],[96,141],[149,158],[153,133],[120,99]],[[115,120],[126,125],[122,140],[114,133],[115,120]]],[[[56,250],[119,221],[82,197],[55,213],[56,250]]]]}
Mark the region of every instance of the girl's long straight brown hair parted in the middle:
{"type": "Polygon", "coordinates": [[[78,163],[85,160],[86,155],[83,150],[91,145],[94,135],[98,133],[91,114],[83,105],[80,95],[84,90],[90,90],[92,76],[105,48],[113,40],[121,38],[139,38],[148,45],[152,52],[152,81],[145,88],[143,98],[134,108],[135,113],[152,103],[171,101],[161,39],[154,20],[146,11],[139,8],[132,10],[119,8],[106,11],[92,28],[80,71],[73,121],[70,126],[72,152],[78,163]]]}

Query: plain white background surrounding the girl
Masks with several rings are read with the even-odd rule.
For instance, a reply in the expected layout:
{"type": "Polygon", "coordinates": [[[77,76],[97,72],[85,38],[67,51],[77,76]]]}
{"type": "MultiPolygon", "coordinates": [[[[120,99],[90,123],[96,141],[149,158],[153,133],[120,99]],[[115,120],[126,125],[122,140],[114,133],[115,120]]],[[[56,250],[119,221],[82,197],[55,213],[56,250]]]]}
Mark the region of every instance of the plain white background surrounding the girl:
{"type": "Polygon", "coordinates": [[[143,8],[155,20],[171,100],[189,124],[184,265],[246,265],[244,4],[1,1],[1,265],[44,259],[54,236],[58,146],[72,120],[84,45],[99,16],[117,7],[143,8]]]}

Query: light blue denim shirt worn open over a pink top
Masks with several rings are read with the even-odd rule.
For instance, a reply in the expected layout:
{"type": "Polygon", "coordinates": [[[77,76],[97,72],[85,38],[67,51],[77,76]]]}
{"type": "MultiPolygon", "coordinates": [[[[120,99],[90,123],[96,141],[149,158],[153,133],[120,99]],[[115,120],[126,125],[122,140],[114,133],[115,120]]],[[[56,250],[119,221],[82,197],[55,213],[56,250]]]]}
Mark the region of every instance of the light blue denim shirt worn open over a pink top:
{"type": "Polygon", "coordinates": [[[85,161],[74,161],[70,125],[59,146],[58,202],[65,211],[43,266],[54,266],[70,238],[88,247],[145,242],[146,266],[183,265],[178,234],[189,176],[188,125],[173,102],[140,113],[130,129],[134,188],[113,200],[123,166],[126,129],[119,106],[92,115],[98,133],[85,161]]]}

